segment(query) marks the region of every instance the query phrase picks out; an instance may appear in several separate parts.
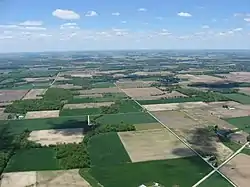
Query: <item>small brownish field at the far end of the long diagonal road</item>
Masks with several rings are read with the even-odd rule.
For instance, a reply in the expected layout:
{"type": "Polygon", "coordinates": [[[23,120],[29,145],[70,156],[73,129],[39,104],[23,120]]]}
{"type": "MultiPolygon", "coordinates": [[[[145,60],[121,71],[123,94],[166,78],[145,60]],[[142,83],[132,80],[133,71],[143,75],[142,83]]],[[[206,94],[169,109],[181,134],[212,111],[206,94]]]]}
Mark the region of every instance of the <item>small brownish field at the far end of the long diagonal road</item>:
{"type": "Polygon", "coordinates": [[[147,87],[151,87],[153,83],[155,83],[155,81],[118,81],[116,82],[117,86],[122,89],[147,88],[147,87]]]}

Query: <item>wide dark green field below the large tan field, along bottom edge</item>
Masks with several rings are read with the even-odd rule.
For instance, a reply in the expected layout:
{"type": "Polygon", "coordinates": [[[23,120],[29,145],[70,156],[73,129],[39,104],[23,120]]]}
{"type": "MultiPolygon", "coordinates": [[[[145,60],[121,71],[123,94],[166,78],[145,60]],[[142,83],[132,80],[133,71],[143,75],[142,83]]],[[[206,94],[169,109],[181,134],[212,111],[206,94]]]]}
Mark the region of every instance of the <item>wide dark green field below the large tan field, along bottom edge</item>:
{"type": "Polygon", "coordinates": [[[192,186],[211,168],[198,157],[93,167],[90,174],[103,186],[133,187],[158,182],[164,186],[192,186]]]}

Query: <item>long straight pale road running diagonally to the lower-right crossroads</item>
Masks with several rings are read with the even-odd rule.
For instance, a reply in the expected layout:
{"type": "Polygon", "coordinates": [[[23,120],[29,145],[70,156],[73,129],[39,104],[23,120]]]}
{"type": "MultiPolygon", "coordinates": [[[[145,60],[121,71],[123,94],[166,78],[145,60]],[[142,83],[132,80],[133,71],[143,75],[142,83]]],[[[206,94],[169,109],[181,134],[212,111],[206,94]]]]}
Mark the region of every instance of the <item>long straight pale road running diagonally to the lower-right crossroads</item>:
{"type": "MultiPolygon", "coordinates": [[[[118,88],[118,89],[120,89],[122,92],[124,92],[123,91],[123,89],[122,88],[120,88],[116,83],[114,83],[115,85],[116,85],[116,87],[118,88]]],[[[125,92],[124,92],[125,93],[125,92]]],[[[126,93],[125,93],[126,94],[126,93]]],[[[166,124],[164,124],[163,122],[161,122],[157,117],[155,117],[150,111],[148,111],[146,108],[144,108],[138,101],[136,101],[134,98],[132,98],[132,100],[134,101],[134,102],[136,102],[140,107],[142,107],[143,109],[145,109],[145,111],[150,115],[150,116],[152,116],[156,121],[158,121],[162,126],[164,126],[171,134],[173,134],[178,140],[180,140],[184,145],[186,145],[190,150],[192,150],[197,156],[199,156],[204,162],[206,162],[210,167],[212,167],[213,168],[213,173],[214,172],[218,172],[225,180],[227,180],[232,186],[234,186],[234,187],[237,187],[237,185],[236,184],[234,184],[230,179],[228,179],[223,173],[221,173],[219,170],[218,170],[218,168],[215,168],[213,165],[211,165],[206,159],[204,159],[201,155],[200,155],[200,153],[198,153],[196,150],[194,150],[185,140],[183,140],[182,138],[180,138],[174,131],[172,131],[166,124]]],[[[212,174],[213,174],[212,173],[212,174]]],[[[211,175],[212,175],[211,174],[211,175]]],[[[208,174],[209,175],[209,174],[208,174]]],[[[210,176],[210,175],[209,175],[210,176]]],[[[207,177],[208,178],[208,177],[207,177]]],[[[205,179],[204,179],[205,180],[205,179]]],[[[200,184],[200,183],[199,183],[200,184]]],[[[198,185],[199,185],[198,184],[198,185]]],[[[195,186],[193,186],[193,187],[195,187],[195,186]]]]}

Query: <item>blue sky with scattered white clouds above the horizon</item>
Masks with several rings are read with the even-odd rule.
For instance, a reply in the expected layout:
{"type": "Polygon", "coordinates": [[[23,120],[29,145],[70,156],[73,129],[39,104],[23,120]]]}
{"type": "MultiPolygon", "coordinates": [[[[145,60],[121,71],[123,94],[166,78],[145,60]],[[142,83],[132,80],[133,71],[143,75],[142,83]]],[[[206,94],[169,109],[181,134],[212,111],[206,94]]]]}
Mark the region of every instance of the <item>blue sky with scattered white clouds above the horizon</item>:
{"type": "Polygon", "coordinates": [[[250,49],[249,0],[0,0],[0,52],[250,49]]]}

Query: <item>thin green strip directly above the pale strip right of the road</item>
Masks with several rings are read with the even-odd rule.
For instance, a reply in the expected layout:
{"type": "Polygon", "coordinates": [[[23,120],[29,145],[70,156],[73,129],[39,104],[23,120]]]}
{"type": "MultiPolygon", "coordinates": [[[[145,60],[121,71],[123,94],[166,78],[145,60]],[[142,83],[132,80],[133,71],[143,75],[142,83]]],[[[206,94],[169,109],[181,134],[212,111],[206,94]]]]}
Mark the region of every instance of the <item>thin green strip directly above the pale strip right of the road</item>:
{"type": "Polygon", "coordinates": [[[202,101],[200,97],[180,97],[180,98],[170,98],[170,99],[158,99],[158,100],[138,100],[141,105],[150,104],[164,104],[164,103],[185,103],[185,102],[196,102],[202,101]]]}

